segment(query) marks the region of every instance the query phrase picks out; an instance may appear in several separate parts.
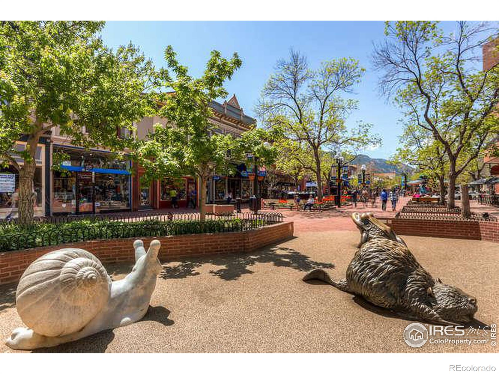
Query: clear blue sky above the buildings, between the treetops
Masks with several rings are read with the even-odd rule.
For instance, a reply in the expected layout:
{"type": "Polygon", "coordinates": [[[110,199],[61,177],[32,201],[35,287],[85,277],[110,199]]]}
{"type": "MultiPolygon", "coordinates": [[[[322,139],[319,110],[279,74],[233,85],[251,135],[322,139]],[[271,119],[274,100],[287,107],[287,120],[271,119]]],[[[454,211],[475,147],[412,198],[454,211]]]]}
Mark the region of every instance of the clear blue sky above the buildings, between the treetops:
{"type": "MultiPolygon", "coordinates": [[[[454,22],[442,25],[450,31],[454,22]]],[[[202,74],[211,50],[217,49],[226,57],[238,52],[243,66],[226,88],[230,96],[237,95],[245,114],[252,117],[276,60],[287,57],[291,47],[306,55],[312,68],[325,60],[354,57],[367,71],[362,83],[355,87],[359,108],[348,118],[347,125],[358,120],[372,123],[383,145],[363,153],[389,158],[398,145],[401,128],[397,120],[401,115],[398,108],[378,95],[378,76],[370,61],[372,43],[383,40],[383,29],[381,21],[112,21],[106,23],[102,36],[112,47],[132,41],[156,66],[164,64],[163,51],[172,45],[180,62],[195,76],[202,74]]]]}

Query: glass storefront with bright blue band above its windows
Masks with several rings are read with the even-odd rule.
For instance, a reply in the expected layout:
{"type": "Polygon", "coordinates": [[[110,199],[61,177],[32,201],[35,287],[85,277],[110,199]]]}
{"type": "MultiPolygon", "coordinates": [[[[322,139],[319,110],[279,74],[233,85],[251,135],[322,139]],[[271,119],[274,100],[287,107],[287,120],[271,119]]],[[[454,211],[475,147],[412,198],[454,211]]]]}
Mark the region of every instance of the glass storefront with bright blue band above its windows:
{"type": "MultiPolygon", "coordinates": [[[[54,147],[55,148],[55,147],[54,147]]],[[[53,214],[94,214],[131,210],[130,163],[104,151],[57,149],[69,160],[53,171],[53,214]]]]}

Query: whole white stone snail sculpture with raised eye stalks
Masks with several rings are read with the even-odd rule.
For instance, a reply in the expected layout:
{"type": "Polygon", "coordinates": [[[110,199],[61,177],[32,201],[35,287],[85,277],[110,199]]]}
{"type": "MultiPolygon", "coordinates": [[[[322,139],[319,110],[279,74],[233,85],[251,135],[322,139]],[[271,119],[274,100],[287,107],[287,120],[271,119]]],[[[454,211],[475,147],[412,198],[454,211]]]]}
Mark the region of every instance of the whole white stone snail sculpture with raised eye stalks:
{"type": "Polygon", "coordinates": [[[161,243],[153,240],[147,252],[142,240],[133,246],[135,266],[115,282],[97,257],[79,248],[53,251],[32,262],[15,295],[17,313],[28,328],[15,329],[6,345],[53,347],[139,321],[162,271],[161,243]]]}

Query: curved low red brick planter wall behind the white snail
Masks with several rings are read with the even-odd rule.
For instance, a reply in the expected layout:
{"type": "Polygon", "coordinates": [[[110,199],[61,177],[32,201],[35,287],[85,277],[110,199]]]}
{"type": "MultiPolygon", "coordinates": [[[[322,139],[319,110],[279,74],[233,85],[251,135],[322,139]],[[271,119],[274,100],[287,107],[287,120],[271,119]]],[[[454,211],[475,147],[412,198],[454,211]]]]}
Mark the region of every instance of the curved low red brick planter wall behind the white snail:
{"type": "MultiPolygon", "coordinates": [[[[159,259],[174,261],[183,257],[247,252],[293,236],[293,222],[277,223],[255,230],[242,232],[217,232],[141,238],[144,246],[153,239],[161,241],[159,259]]],[[[41,255],[61,248],[82,248],[93,253],[102,263],[135,260],[133,242],[137,238],[91,240],[65,243],[50,247],[38,247],[0,253],[0,284],[16,282],[31,262],[41,255]]]]}

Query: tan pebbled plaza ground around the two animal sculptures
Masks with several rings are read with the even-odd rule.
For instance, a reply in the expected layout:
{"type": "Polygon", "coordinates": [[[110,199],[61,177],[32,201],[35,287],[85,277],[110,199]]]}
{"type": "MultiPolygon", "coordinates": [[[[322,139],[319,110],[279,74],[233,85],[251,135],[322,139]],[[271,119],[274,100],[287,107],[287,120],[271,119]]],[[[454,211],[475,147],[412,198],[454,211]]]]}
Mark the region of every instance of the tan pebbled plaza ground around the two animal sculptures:
{"type": "MultiPolygon", "coordinates": [[[[403,238],[433,276],[478,299],[475,317],[482,325],[497,323],[497,243],[403,238]]],[[[489,344],[410,348],[402,338],[410,321],[332,286],[301,280],[315,267],[344,277],[358,241],[356,229],[301,229],[294,238],[255,252],[164,263],[143,320],[37,352],[496,351],[489,344]]],[[[115,280],[131,266],[106,265],[115,280]]],[[[22,322],[14,306],[15,284],[1,286],[0,295],[4,341],[22,322]]],[[[4,345],[0,351],[14,352],[4,345]]]]}

